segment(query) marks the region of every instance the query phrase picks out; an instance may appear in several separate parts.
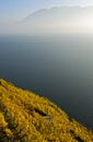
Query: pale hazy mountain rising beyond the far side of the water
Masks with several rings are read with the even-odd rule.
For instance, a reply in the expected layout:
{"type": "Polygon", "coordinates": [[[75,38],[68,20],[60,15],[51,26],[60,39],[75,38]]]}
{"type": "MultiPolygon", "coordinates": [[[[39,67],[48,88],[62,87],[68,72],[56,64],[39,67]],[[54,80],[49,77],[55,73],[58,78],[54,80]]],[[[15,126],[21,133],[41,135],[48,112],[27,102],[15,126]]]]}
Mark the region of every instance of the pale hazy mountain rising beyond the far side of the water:
{"type": "Polygon", "coordinates": [[[61,7],[40,9],[18,25],[23,33],[93,32],[93,7],[61,7]]]}

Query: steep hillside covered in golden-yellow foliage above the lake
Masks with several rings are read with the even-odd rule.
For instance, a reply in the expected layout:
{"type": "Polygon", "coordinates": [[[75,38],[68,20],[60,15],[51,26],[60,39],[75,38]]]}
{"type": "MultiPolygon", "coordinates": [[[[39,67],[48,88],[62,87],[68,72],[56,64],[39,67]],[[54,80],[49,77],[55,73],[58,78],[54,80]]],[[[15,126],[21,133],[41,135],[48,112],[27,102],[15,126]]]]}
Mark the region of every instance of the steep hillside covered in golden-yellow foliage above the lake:
{"type": "Polygon", "coordinates": [[[0,142],[93,142],[93,133],[47,98],[0,79],[0,142]]]}

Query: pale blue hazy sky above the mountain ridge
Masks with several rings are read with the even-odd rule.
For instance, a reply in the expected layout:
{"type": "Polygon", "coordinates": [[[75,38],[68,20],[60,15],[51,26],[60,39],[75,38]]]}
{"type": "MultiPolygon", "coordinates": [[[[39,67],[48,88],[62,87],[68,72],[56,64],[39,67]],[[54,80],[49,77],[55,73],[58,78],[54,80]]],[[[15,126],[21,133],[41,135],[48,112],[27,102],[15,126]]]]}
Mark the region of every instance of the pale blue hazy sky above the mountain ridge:
{"type": "Polygon", "coordinates": [[[18,21],[43,8],[93,5],[93,0],[0,0],[0,21],[18,21]]]}

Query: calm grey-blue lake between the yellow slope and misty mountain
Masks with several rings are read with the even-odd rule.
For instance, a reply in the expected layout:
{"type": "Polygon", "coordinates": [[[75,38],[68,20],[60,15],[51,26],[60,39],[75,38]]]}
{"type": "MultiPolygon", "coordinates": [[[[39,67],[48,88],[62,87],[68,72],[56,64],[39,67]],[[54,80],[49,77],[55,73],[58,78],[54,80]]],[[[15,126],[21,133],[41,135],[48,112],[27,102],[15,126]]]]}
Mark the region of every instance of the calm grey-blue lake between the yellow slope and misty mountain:
{"type": "Polygon", "coordinates": [[[93,130],[93,35],[0,36],[0,78],[93,130]]]}

